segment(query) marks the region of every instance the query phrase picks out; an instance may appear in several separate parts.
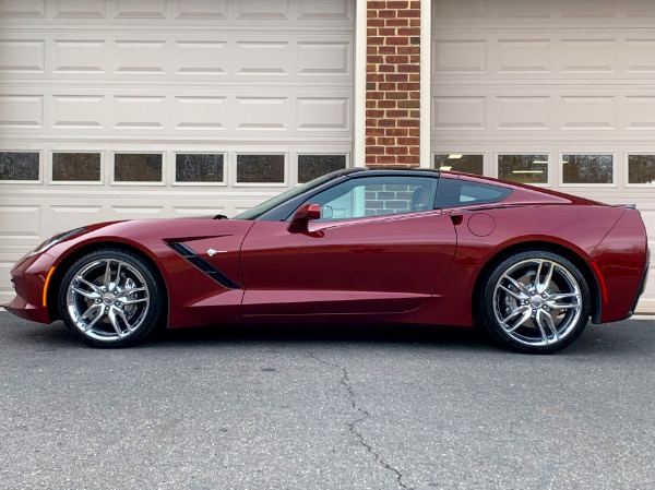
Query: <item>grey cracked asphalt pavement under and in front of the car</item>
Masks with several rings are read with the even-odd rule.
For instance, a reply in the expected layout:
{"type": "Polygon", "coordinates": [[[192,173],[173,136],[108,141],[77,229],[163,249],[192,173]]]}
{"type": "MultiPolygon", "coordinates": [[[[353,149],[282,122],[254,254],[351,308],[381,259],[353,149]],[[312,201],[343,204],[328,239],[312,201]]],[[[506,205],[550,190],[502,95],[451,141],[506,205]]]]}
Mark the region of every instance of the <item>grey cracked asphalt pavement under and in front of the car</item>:
{"type": "Polygon", "coordinates": [[[556,356],[427,328],[82,346],[0,313],[0,489],[655,488],[655,319],[556,356]]]}

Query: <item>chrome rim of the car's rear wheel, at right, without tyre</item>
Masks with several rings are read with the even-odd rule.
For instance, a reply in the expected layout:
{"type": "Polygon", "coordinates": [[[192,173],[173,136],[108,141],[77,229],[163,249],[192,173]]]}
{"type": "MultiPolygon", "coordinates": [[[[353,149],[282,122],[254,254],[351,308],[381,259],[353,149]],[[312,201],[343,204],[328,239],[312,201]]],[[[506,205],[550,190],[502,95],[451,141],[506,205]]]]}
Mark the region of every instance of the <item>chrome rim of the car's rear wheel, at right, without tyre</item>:
{"type": "Polygon", "coordinates": [[[524,345],[563,340],[575,330],[582,308],[577,280],[551,260],[528,259],[512,265],[493,289],[496,321],[505,335],[524,345]]]}

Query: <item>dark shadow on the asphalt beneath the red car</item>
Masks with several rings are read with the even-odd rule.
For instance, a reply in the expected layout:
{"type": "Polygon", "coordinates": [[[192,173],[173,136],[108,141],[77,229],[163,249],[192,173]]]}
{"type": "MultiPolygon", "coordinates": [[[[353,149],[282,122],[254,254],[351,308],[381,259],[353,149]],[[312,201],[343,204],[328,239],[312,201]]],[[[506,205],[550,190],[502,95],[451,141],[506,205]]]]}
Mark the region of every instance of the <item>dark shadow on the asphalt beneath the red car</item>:
{"type": "MultiPolygon", "coordinates": [[[[437,350],[503,351],[483,327],[362,325],[215,325],[160,330],[135,349],[175,349],[194,346],[242,344],[314,345],[421,345],[437,350]]],[[[40,325],[0,313],[0,345],[20,345],[39,350],[88,348],[61,322],[40,325]]],[[[655,319],[626,320],[608,325],[588,325],[582,336],[559,355],[643,354],[655,355],[655,319]]]]}

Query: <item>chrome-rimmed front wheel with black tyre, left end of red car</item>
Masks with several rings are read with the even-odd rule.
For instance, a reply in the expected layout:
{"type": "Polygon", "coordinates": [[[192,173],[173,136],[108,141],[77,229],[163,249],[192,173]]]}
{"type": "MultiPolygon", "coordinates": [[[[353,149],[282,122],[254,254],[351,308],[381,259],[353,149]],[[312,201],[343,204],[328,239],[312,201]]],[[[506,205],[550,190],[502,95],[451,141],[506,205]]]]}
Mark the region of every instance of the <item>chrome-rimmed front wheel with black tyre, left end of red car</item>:
{"type": "Polygon", "coordinates": [[[127,347],[159,324],[163,288],[153,266],[115,249],[91,252],[64,275],[59,312],[69,330],[95,347],[127,347]]]}

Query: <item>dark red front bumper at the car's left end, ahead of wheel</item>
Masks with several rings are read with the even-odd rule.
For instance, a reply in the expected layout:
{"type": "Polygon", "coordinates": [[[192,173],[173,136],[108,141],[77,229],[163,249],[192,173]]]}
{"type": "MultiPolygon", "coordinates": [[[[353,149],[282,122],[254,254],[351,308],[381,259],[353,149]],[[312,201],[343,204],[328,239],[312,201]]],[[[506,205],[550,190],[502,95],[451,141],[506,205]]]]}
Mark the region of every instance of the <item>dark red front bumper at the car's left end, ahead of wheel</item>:
{"type": "Polygon", "coordinates": [[[38,323],[50,323],[46,295],[46,279],[55,265],[47,253],[26,255],[11,271],[16,296],[2,307],[10,313],[38,323]]]}

